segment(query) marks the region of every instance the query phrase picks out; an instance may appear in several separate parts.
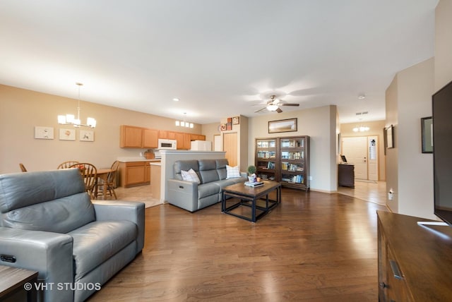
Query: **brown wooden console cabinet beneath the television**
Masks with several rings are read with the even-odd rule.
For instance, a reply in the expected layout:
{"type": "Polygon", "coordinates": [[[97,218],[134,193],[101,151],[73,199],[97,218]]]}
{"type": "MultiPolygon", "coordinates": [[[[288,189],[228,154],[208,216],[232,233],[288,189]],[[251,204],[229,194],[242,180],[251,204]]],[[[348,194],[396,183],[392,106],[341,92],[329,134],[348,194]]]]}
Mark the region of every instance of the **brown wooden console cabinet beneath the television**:
{"type": "Polygon", "coordinates": [[[377,211],[379,301],[451,301],[452,227],[377,211]]]}

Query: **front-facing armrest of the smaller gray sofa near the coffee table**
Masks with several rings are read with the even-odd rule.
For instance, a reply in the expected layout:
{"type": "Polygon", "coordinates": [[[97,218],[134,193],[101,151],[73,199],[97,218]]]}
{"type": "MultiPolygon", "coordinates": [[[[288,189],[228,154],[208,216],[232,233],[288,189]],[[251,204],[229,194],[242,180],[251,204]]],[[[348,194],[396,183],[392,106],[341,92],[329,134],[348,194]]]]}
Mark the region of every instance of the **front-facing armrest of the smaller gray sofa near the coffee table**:
{"type": "Polygon", "coordinates": [[[167,187],[168,203],[190,212],[198,210],[198,183],[196,181],[168,179],[167,187]]]}

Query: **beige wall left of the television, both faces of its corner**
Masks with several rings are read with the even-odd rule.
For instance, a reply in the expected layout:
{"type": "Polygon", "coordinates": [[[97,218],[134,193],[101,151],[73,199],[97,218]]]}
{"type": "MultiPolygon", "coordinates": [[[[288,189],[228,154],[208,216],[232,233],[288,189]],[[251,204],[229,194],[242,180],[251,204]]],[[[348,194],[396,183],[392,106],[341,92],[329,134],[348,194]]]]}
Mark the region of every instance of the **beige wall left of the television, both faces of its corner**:
{"type": "Polygon", "coordinates": [[[395,128],[386,150],[387,200],[393,212],[436,219],[433,214],[433,157],[422,153],[421,118],[432,116],[434,59],[400,71],[386,91],[386,126],[395,128]]]}

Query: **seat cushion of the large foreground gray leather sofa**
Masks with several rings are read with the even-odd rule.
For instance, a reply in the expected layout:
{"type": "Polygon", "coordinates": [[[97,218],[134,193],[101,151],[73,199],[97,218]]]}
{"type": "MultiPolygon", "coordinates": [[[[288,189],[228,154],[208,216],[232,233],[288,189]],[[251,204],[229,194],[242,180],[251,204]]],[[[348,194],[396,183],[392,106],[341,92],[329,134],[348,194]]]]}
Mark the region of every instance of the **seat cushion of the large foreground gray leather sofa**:
{"type": "Polygon", "coordinates": [[[91,222],[69,232],[73,237],[75,281],[129,245],[137,232],[136,224],[126,220],[91,222]]]}

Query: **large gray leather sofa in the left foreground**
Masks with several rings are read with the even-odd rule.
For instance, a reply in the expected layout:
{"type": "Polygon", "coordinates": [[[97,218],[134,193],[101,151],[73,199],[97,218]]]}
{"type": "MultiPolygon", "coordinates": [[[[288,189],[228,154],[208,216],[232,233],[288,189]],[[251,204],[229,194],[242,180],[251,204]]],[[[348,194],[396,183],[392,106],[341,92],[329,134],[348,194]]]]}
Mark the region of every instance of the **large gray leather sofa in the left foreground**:
{"type": "Polygon", "coordinates": [[[92,202],[78,169],[0,175],[0,265],[39,272],[38,301],[84,301],[142,250],[144,210],[92,202]]]}

